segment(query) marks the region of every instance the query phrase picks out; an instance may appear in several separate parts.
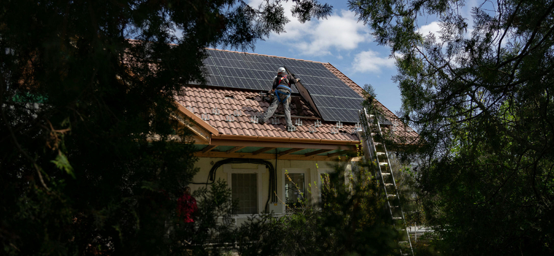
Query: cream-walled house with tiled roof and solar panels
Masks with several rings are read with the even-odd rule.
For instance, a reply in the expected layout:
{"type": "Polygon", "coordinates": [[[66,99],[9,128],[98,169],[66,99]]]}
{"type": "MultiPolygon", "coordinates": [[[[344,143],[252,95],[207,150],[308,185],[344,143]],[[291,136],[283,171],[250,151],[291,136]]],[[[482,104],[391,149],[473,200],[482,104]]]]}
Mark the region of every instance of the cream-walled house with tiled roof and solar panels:
{"type": "MultiPolygon", "coordinates": [[[[358,111],[363,89],[329,63],[287,57],[208,49],[204,64],[208,86],[190,84],[176,97],[175,118],[195,134],[199,173],[190,187],[217,179],[227,181],[239,201],[236,220],[260,212],[285,213],[286,205],[319,188],[330,164],[356,161],[360,138],[358,111]],[[264,125],[257,123],[269,107],[264,93],[276,70],[285,66],[301,77],[293,88],[291,114],[296,131],[287,131],[282,105],[264,125]],[[285,178],[285,172],[287,178],[285,178]]],[[[397,125],[397,117],[382,104],[385,127],[417,136],[397,125]]],[[[407,128],[409,129],[409,128],[407,128]]],[[[319,192],[310,200],[319,200],[319,192]]]]}

